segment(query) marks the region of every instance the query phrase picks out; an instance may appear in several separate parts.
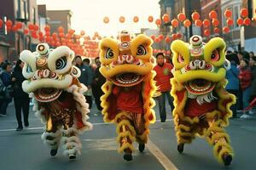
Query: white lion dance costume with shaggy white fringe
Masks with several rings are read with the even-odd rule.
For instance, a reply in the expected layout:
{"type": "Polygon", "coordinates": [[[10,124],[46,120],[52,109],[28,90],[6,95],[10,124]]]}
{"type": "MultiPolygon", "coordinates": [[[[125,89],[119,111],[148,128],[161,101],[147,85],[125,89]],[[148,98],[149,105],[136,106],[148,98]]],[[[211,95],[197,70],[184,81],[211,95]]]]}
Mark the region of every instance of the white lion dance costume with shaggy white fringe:
{"type": "Polygon", "coordinates": [[[22,74],[27,79],[22,88],[32,94],[33,109],[45,123],[42,139],[49,144],[51,156],[62,143],[64,155],[70,159],[82,148],[78,134],[92,127],[87,122],[89,109],[83,95],[87,88],[78,80],[80,71],[72,65],[73,58],[70,48],[49,49],[46,43],[38,44],[36,52],[24,50],[20,54],[25,62],[22,74]]]}

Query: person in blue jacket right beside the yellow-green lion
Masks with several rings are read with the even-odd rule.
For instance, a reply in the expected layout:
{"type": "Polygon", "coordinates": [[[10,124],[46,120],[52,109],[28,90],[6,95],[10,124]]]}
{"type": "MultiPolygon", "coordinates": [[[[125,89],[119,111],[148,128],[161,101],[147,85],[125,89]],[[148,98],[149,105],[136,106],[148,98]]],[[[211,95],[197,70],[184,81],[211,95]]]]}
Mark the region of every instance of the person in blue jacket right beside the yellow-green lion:
{"type": "MultiPolygon", "coordinates": [[[[230,61],[230,70],[226,72],[226,79],[228,80],[228,84],[226,86],[226,90],[230,94],[234,94],[236,97],[238,96],[239,92],[239,69],[237,65],[239,64],[239,59],[237,54],[226,54],[226,59],[230,61]]],[[[230,107],[231,111],[233,112],[232,117],[236,117],[236,110],[237,110],[237,103],[230,107]]]]}

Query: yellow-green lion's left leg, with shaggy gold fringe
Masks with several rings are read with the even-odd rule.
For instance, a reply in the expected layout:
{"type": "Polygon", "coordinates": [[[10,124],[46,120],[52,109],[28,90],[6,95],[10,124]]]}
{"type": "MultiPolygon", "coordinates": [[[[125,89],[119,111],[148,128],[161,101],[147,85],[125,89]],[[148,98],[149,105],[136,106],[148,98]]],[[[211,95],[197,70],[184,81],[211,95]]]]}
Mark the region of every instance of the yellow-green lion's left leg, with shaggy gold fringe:
{"type": "Polygon", "coordinates": [[[175,118],[175,129],[177,135],[177,150],[183,153],[184,144],[190,144],[195,139],[196,126],[199,118],[191,119],[189,116],[184,116],[183,119],[175,118]]]}

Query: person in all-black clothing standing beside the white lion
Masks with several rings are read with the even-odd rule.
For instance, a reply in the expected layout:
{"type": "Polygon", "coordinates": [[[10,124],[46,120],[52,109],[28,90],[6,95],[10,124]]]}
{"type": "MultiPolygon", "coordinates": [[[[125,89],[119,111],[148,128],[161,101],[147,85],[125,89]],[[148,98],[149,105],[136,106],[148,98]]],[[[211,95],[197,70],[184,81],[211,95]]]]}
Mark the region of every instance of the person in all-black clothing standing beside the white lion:
{"type": "Polygon", "coordinates": [[[23,129],[21,121],[21,110],[23,112],[23,120],[25,127],[29,126],[28,114],[29,114],[29,96],[22,90],[22,82],[26,80],[22,75],[22,68],[24,63],[19,59],[15,65],[15,69],[12,74],[12,85],[14,89],[14,99],[15,99],[15,113],[18,122],[18,127],[16,131],[23,129]]]}

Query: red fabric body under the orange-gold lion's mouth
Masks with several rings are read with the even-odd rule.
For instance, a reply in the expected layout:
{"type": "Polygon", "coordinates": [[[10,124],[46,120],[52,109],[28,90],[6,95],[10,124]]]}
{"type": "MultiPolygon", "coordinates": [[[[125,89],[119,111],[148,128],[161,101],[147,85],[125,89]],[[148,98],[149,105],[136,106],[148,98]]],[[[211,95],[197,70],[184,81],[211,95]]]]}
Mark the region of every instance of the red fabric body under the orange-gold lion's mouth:
{"type": "Polygon", "coordinates": [[[117,109],[132,113],[143,113],[142,83],[130,88],[114,87],[113,95],[117,98],[117,109]]]}

